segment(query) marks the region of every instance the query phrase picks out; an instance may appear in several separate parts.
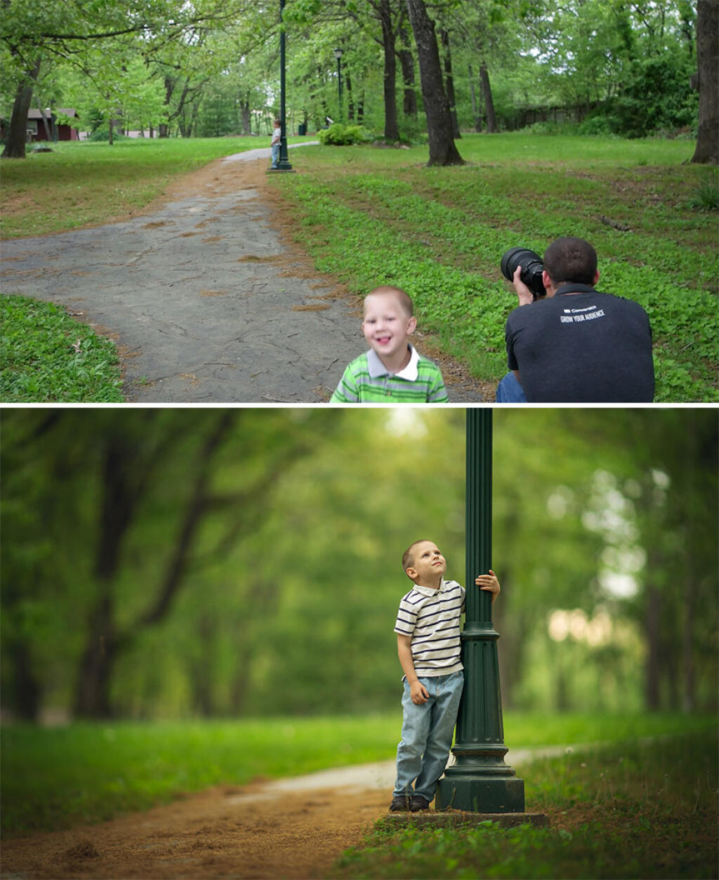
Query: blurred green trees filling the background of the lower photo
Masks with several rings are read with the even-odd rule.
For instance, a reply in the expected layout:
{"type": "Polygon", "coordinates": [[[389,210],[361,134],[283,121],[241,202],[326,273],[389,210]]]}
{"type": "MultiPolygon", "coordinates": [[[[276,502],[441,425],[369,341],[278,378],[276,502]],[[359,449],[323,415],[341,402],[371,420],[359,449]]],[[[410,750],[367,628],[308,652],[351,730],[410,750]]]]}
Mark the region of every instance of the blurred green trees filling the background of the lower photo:
{"type": "MultiPolygon", "coordinates": [[[[715,413],[495,410],[505,706],[716,702],[715,413]]],[[[5,410],[3,707],[394,706],[405,546],[464,572],[464,412],[5,410]]]]}

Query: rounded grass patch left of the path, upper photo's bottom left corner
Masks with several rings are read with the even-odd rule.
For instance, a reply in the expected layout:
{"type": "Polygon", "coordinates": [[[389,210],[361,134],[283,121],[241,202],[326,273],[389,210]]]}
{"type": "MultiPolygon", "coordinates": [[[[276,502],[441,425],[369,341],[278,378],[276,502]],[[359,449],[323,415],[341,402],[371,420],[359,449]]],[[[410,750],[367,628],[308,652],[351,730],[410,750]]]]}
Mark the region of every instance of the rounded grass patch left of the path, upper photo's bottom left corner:
{"type": "Polygon", "coordinates": [[[121,403],[114,342],[64,307],[0,297],[0,400],[4,403],[121,403]]]}

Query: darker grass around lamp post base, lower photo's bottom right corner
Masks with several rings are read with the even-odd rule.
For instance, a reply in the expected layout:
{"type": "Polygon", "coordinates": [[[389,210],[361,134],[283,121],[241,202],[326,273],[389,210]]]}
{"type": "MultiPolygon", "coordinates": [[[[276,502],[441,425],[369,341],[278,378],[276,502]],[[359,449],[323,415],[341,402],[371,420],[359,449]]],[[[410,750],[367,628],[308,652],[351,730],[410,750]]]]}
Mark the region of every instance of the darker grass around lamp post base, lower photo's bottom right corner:
{"type": "Polygon", "coordinates": [[[546,813],[548,828],[398,831],[381,820],[331,876],[716,876],[715,731],[536,761],[521,776],[525,809],[546,813]]]}

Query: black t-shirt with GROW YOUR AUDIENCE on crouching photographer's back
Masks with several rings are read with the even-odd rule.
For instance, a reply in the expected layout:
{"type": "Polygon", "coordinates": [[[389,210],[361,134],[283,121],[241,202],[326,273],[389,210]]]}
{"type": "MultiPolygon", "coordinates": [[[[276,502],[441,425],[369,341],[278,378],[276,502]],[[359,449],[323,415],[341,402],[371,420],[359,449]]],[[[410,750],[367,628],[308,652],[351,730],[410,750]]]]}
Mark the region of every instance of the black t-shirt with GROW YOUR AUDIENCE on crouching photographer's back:
{"type": "Polygon", "coordinates": [[[510,312],[505,336],[529,403],[654,399],[649,318],[630,299],[561,285],[554,297],[510,312]]]}

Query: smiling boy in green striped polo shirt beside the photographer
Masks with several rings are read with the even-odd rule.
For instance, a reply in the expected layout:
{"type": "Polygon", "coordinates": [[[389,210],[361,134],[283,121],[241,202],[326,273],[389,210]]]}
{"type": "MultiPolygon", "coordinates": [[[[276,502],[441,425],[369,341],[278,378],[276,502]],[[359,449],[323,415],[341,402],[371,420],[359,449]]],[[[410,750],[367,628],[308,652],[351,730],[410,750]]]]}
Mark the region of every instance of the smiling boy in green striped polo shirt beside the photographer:
{"type": "Polygon", "coordinates": [[[399,287],[371,290],[364,297],[364,338],[370,350],[344,371],[330,403],[445,403],[442,373],[417,354],[408,336],[417,320],[412,300],[399,287]]]}

